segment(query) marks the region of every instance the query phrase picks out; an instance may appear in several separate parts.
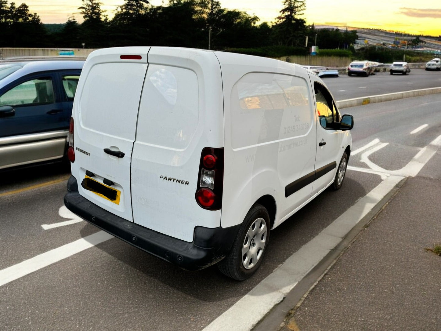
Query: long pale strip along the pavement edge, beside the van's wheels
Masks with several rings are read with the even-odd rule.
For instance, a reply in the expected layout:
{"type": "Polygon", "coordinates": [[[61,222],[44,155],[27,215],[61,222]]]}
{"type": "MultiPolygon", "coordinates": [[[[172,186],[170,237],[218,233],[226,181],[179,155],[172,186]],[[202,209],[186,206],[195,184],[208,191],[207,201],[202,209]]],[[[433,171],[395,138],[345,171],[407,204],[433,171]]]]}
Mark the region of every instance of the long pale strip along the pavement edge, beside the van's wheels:
{"type": "Polygon", "coordinates": [[[390,176],[378,184],[203,331],[250,331],[402,179],[390,176]]]}

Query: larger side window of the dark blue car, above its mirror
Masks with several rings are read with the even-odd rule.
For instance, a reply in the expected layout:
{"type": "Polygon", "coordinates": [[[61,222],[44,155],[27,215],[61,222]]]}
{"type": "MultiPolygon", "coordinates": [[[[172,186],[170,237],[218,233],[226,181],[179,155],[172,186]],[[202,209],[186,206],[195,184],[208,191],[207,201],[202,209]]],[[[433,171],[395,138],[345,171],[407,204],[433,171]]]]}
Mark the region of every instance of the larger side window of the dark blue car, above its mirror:
{"type": "Polygon", "coordinates": [[[0,106],[48,104],[54,102],[54,91],[50,77],[28,80],[0,96],[0,106]]]}

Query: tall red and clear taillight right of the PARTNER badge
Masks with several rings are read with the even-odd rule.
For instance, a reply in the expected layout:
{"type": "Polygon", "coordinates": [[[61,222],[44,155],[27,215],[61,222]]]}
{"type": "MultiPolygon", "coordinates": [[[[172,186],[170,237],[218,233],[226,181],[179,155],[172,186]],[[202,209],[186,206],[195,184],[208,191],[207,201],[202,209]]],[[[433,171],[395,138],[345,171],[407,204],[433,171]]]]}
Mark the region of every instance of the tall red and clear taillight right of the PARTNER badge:
{"type": "Polygon", "coordinates": [[[216,211],[222,207],[224,149],[205,147],[199,162],[196,201],[202,208],[216,211]]]}

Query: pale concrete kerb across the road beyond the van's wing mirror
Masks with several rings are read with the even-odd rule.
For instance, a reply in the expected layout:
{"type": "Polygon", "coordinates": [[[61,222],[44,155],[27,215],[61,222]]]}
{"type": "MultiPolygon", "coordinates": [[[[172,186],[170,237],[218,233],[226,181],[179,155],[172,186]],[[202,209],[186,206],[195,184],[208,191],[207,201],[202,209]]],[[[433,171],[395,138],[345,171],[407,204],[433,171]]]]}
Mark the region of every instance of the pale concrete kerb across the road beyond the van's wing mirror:
{"type": "Polygon", "coordinates": [[[336,104],[339,109],[342,109],[348,107],[367,105],[370,103],[392,101],[403,98],[420,97],[422,95],[436,94],[436,93],[441,93],[441,87],[431,87],[428,89],[421,89],[421,90],[411,90],[405,92],[395,92],[388,94],[371,95],[368,97],[346,99],[346,100],[337,101],[336,104]]]}

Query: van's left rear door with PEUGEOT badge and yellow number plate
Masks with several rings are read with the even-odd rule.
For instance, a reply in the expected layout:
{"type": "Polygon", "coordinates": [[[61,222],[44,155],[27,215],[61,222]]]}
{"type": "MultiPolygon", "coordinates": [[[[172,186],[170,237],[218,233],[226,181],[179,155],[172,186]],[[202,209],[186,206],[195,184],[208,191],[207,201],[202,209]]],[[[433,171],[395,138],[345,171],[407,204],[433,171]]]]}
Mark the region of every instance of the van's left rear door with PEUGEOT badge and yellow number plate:
{"type": "Polygon", "coordinates": [[[79,193],[129,221],[130,158],[148,51],[134,47],[93,52],[74,102],[72,174],[79,193]]]}

